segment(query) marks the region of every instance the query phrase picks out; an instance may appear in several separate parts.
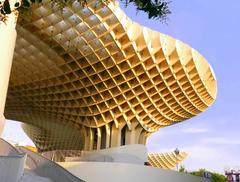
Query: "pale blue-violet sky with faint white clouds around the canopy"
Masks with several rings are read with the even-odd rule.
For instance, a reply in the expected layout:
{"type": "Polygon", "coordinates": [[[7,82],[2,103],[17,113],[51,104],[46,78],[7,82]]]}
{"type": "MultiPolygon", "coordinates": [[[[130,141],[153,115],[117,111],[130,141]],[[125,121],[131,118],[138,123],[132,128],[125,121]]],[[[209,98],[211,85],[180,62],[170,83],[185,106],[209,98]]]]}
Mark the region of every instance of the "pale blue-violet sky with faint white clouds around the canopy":
{"type": "MultiPolygon", "coordinates": [[[[177,38],[199,51],[211,64],[217,78],[218,95],[204,113],[185,122],[162,128],[147,142],[149,152],[175,148],[189,154],[182,163],[192,171],[206,168],[223,173],[240,169],[240,1],[172,0],[166,24],[136,13],[126,14],[141,25],[177,38]]],[[[20,123],[8,121],[3,138],[31,144],[20,123]]]]}

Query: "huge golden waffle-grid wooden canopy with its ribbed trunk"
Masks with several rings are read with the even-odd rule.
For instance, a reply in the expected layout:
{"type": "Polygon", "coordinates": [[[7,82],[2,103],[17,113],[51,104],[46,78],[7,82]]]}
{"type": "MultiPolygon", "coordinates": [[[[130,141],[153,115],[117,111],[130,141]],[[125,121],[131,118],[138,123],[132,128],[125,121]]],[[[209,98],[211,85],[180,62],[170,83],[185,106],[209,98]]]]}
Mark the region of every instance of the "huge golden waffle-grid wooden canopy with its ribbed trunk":
{"type": "Polygon", "coordinates": [[[216,79],[197,51],[117,2],[87,3],[61,11],[44,0],[19,17],[5,115],[26,123],[40,150],[145,143],[213,103],[216,79]]]}

